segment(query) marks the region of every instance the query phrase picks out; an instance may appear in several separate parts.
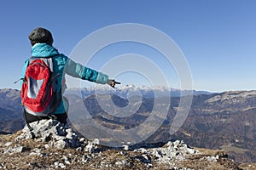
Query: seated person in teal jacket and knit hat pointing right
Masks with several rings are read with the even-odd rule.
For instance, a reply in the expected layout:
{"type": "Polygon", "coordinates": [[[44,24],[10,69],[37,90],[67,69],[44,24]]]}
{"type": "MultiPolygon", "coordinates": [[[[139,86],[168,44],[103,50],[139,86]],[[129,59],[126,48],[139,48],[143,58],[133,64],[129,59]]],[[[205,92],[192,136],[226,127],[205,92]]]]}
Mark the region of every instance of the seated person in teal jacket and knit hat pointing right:
{"type": "MultiPolygon", "coordinates": [[[[22,101],[25,100],[25,99],[22,99],[22,98],[26,98],[26,97],[23,97],[25,92],[27,93],[27,95],[30,95],[30,96],[33,96],[36,92],[40,93],[39,92],[40,89],[37,87],[38,85],[36,85],[35,87],[32,87],[32,89],[28,89],[28,88],[31,88],[29,86],[32,86],[32,83],[35,82],[35,80],[32,80],[32,79],[26,80],[28,79],[26,78],[26,68],[28,67],[29,63],[32,62],[32,59],[43,59],[44,61],[46,60],[47,62],[52,63],[51,65],[53,68],[51,69],[52,69],[52,72],[54,72],[55,77],[51,77],[51,78],[55,79],[55,92],[61,95],[61,97],[60,99],[56,99],[54,102],[54,103],[58,103],[58,105],[52,106],[55,108],[51,108],[50,110],[50,111],[55,110],[53,114],[44,116],[44,115],[40,115],[38,113],[39,111],[38,112],[33,111],[31,113],[28,113],[28,111],[24,111],[24,118],[26,119],[26,123],[36,122],[42,119],[49,119],[52,116],[61,123],[64,123],[64,124],[67,123],[68,102],[67,102],[67,99],[65,99],[62,96],[66,88],[66,83],[65,81],[63,81],[65,80],[65,73],[67,73],[72,77],[78,77],[90,82],[108,84],[112,88],[114,88],[116,84],[119,84],[119,82],[115,82],[113,79],[109,79],[108,75],[103,74],[102,72],[94,71],[90,68],[80,65],[79,63],[75,63],[72,59],[68,58],[65,54],[60,54],[58,50],[53,47],[54,39],[49,30],[42,27],[38,27],[30,33],[28,38],[32,45],[32,58],[26,59],[22,69],[21,76],[25,78],[23,79],[21,78],[21,79],[23,80],[22,84],[25,84],[26,86],[26,90],[22,89],[24,87],[21,88],[23,90],[23,92],[21,90],[21,100],[22,101]],[[48,61],[49,59],[50,61],[48,61]],[[34,82],[30,82],[26,84],[26,81],[34,81],[34,82]]],[[[40,65],[43,65],[43,64],[40,64],[40,65]]],[[[37,95],[34,95],[34,98],[36,98],[37,95]]]]}

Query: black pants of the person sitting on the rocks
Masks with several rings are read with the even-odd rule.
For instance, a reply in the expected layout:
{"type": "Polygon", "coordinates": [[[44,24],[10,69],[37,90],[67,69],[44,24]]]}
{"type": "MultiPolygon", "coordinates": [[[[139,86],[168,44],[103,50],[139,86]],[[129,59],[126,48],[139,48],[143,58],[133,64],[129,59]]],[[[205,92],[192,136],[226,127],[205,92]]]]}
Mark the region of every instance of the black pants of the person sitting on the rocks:
{"type": "MultiPolygon", "coordinates": [[[[24,113],[25,116],[25,121],[28,123],[31,122],[36,122],[36,121],[40,121],[43,119],[50,119],[49,116],[33,116],[29,113],[24,113]]],[[[54,114],[55,119],[61,123],[66,124],[67,123],[67,113],[63,113],[63,114],[54,114]]]]}

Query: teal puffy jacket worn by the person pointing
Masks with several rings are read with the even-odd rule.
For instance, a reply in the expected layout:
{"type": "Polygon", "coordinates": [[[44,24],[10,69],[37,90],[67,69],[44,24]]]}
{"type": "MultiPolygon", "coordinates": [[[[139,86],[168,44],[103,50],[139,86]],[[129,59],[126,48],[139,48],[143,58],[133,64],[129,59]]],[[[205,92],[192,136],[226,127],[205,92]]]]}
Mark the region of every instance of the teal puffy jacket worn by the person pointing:
{"type": "MultiPolygon", "coordinates": [[[[88,80],[90,82],[96,82],[101,84],[106,84],[108,82],[108,76],[94,71],[88,67],[75,63],[72,59],[69,59],[66,55],[60,54],[57,49],[48,45],[47,43],[36,43],[32,47],[32,57],[49,57],[53,56],[53,65],[55,74],[61,74],[58,77],[58,87],[57,90],[61,91],[62,77],[65,77],[65,73],[72,77],[78,77],[83,80],[88,80]]],[[[26,59],[25,64],[22,69],[21,77],[25,77],[26,67],[28,65],[29,59],[26,59]]],[[[63,86],[63,84],[62,84],[63,86]]],[[[64,93],[62,87],[62,93],[64,93]]],[[[65,88],[64,88],[65,89],[65,88]]],[[[55,111],[55,114],[63,114],[67,111],[67,103],[62,100],[60,106],[55,111]]]]}

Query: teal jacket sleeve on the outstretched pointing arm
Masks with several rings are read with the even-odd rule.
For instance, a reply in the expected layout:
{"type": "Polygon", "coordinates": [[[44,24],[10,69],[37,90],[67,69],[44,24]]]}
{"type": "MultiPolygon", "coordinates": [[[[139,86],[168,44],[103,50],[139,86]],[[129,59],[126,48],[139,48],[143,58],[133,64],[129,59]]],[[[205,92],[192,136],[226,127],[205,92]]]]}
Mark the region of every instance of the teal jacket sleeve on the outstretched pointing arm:
{"type": "Polygon", "coordinates": [[[83,80],[88,80],[90,82],[96,82],[101,84],[106,84],[108,82],[108,75],[80,65],[79,63],[76,63],[69,58],[67,58],[66,73],[69,76],[79,77],[83,80]]]}

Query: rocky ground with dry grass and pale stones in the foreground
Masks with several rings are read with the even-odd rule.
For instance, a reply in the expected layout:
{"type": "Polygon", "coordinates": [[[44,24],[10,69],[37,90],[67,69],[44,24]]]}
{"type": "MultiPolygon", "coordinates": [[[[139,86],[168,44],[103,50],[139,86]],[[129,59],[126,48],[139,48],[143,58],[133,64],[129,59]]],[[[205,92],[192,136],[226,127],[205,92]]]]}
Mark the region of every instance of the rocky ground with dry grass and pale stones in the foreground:
{"type": "Polygon", "coordinates": [[[0,135],[0,169],[255,169],[236,163],[223,150],[191,148],[182,140],[124,148],[102,146],[53,120],[31,123],[0,135]]]}

